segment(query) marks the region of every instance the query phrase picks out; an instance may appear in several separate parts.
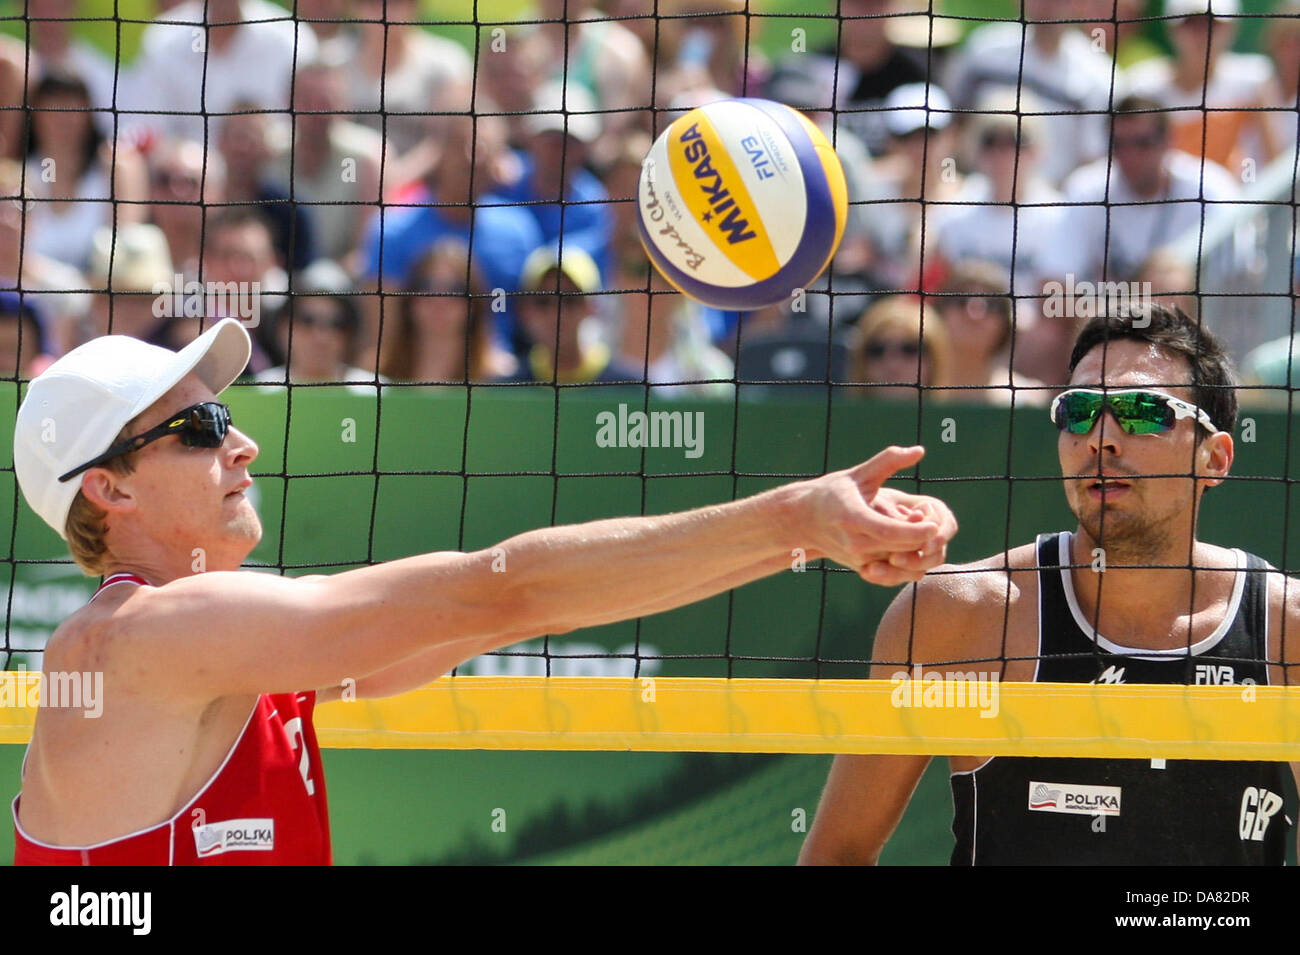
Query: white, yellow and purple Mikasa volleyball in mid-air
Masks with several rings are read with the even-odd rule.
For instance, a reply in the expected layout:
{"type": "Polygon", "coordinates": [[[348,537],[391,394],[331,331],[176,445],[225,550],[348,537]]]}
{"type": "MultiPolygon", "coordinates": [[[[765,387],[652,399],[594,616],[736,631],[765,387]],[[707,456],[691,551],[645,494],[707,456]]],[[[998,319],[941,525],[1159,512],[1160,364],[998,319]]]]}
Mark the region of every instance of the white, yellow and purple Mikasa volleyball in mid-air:
{"type": "Polygon", "coordinates": [[[826,269],[848,217],[844,169],[802,113],[758,99],[679,117],[641,166],[646,255],[679,291],[753,311],[789,300],[826,269]]]}

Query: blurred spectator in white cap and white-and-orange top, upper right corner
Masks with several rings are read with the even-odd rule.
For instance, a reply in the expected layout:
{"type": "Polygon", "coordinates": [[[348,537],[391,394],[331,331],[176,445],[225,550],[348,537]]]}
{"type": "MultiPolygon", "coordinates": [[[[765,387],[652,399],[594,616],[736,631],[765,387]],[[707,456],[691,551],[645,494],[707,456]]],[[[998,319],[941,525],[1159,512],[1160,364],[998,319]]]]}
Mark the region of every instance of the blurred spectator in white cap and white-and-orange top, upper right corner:
{"type": "MultiPolygon", "coordinates": [[[[1175,149],[1228,169],[1245,157],[1273,159],[1280,148],[1258,110],[1274,87],[1273,64],[1260,53],[1235,53],[1238,0],[1165,0],[1173,58],[1154,57],[1128,70],[1128,92],[1169,113],[1175,149]]],[[[1295,100],[1287,104],[1295,109],[1295,100]]],[[[1295,140],[1292,139],[1292,143],[1295,140]]]]}

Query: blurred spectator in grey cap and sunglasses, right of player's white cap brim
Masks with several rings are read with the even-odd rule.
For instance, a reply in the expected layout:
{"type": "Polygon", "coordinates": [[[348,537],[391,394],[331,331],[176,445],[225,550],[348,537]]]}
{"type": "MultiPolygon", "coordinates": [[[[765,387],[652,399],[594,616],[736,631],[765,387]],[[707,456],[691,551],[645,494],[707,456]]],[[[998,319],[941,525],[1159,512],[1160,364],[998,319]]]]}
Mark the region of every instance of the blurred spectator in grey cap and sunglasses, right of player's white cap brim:
{"type": "Polygon", "coordinates": [[[360,313],[352,282],[338,264],[322,259],[303,269],[294,282],[289,304],[276,314],[273,324],[285,363],[257,372],[255,381],[268,385],[350,382],[350,391],[374,394],[374,373],[350,364],[360,313]]]}

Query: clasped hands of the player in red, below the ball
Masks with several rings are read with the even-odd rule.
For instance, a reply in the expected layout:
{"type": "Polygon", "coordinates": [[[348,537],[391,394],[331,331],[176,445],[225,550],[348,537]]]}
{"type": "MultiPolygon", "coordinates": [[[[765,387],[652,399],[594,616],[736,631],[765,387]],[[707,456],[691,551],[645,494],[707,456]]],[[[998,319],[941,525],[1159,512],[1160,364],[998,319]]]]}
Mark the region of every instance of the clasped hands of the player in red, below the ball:
{"type": "Polygon", "coordinates": [[[957,518],[937,498],[884,482],[916,464],[923,447],[888,447],[855,468],[809,482],[814,550],[885,587],[919,581],[942,564],[957,518]]]}

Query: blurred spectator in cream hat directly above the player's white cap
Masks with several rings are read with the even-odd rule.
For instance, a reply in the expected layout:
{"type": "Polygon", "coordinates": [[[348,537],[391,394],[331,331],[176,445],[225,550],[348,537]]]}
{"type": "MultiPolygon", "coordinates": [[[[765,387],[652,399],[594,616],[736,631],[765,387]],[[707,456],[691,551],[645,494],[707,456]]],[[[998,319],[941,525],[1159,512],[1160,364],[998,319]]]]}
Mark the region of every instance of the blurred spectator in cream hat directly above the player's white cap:
{"type": "Polygon", "coordinates": [[[78,344],[100,335],[153,340],[164,322],[182,317],[168,314],[174,312],[176,270],[161,229],[144,222],[121,226],[116,235],[112,229],[100,229],[92,248],[90,287],[101,291],[92,296],[90,327],[78,344]],[[160,296],[166,309],[155,308],[160,296]]]}

